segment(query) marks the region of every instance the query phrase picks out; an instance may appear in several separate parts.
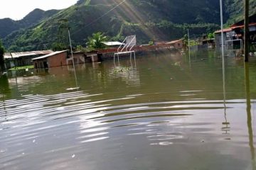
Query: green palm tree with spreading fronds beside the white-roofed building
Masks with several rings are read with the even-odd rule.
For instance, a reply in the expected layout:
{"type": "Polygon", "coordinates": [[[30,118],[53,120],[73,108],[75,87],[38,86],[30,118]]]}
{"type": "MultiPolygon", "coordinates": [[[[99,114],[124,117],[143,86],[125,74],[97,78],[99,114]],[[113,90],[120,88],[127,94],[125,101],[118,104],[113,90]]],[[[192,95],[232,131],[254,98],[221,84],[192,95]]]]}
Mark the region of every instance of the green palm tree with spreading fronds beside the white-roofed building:
{"type": "Polygon", "coordinates": [[[104,49],[106,45],[103,43],[107,41],[107,36],[104,33],[97,32],[93,33],[92,37],[88,37],[87,47],[89,50],[100,50],[104,49]]]}

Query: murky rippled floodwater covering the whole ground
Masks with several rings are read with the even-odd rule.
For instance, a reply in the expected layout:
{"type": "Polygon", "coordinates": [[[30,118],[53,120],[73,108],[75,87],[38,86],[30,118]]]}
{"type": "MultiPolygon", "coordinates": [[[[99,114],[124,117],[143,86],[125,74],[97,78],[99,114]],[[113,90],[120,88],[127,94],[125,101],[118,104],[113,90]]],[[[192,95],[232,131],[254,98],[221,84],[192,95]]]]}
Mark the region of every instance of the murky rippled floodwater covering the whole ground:
{"type": "Polygon", "coordinates": [[[0,169],[256,169],[254,58],[115,64],[2,76],[0,169]]]}

